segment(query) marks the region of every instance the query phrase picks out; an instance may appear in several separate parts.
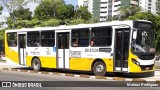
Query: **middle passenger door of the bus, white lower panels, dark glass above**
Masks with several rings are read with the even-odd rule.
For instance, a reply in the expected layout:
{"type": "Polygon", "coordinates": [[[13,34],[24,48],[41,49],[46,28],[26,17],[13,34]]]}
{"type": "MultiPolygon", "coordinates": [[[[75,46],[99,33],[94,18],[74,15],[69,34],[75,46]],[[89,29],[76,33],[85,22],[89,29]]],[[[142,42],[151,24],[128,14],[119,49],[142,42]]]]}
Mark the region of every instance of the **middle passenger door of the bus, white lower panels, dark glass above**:
{"type": "Polygon", "coordinates": [[[57,68],[69,69],[69,32],[57,33],[57,68]]]}

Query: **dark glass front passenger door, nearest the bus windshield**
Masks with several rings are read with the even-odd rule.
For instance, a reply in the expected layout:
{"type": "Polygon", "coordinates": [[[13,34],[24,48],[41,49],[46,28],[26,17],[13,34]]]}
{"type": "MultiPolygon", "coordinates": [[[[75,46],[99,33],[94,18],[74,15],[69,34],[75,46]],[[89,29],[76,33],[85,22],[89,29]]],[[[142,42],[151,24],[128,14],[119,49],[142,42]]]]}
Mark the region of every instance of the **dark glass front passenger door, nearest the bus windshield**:
{"type": "Polygon", "coordinates": [[[130,28],[115,29],[114,71],[128,71],[130,28]]]}

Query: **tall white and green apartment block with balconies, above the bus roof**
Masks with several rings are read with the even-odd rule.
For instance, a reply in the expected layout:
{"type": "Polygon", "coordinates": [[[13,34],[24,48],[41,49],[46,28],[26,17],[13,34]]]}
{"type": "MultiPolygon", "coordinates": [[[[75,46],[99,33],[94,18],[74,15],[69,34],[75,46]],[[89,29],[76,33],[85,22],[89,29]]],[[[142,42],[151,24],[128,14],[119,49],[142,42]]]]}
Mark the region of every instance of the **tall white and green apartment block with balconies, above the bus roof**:
{"type": "Polygon", "coordinates": [[[101,22],[118,15],[121,6],[138,5],[138,0],[78,0],[78,6],[86,6],[93,17],[101,22]]]}

